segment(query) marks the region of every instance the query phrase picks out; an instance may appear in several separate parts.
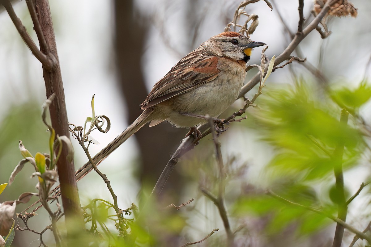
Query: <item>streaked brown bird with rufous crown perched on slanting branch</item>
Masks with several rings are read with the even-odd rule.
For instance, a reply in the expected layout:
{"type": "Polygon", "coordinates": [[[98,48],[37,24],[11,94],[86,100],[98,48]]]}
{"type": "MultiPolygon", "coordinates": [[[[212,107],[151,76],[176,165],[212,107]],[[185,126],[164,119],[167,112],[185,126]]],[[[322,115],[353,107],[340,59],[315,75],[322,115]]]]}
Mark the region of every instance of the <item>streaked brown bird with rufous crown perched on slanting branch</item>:
{"type": "MultiPolygon", "coordinates": [[[[183,57],[152,87],[140,105],[142,114],[118,137],[92,159],[101,163],[124,141],[142,128],[168,121],[175,127],[188,127],[190,134],[200,134],[196,126],[215,121],[236,101],[246,77],[252,49],[265,46],[243,34],[225,31],[202,43],[183,57]]],[[[76,171],[77,179],[92,169],[90,162],[76,171]]]]}

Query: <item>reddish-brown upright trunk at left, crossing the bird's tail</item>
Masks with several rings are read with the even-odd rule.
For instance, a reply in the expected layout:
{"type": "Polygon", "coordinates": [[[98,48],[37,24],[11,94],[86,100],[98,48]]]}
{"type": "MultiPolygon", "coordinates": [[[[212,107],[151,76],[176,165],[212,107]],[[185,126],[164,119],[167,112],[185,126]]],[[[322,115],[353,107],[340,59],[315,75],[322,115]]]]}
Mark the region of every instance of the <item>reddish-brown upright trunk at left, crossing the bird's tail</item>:
{"type": "MultiPolygon", "coordinates": [[[[50,118],[52,126],[59,136],[70,136],[68,130],[68,119],[65,104],[65,93],[63,89],[62,75],[59,67],[59,59],[55,42],[55,33],[49,2],[47,0],[35,0],[36,11],[39,22],[46,39],[47,50],[40,47],[41,51],[52,59],[55,66],[48,70],[43,66],[43,77],[45,80],[46,97],[56,93],[53,103],[50,105],[50,118]]],[[[66,218],[73,219],[83,227],[83,218],[80,208],[79,194],[75,178],[75,166],[73,161],[67,159],[67,149],[63,148],[62,155],[58,160],[58,175],[62,191],[62,203],[66,218]]],[[[75,224],[76,224],[75,223],[75,224]]],[[[69,231],[69,228],[67,228],[69,231]]]]}

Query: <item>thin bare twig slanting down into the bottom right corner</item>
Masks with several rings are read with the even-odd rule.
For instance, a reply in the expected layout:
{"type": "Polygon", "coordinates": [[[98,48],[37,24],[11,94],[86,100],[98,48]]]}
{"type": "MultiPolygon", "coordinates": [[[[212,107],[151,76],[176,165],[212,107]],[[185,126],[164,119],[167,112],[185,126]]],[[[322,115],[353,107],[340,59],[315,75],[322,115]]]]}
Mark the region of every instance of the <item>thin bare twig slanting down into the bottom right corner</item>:
{"type": "Polygon", "coordinates": [[[318,213],[318,214],[322,214],[323,216],[326,216],[327,218],[335,221],[336,223],[338,224],[341,224],[344,228],[348,229],[349,231],[351,231],[352,233],[356,234],[357,236],[359,236],[359,238],[362,238],[362,239],[365,239],[367,240],[369,243],[371,243],[371,238],[370,236],[367,236],[365,233],[362,233],[361,231],[357,230],[356,228],[352,227],[351,225],[345,223],[344,221],[342,221],[341,219],[337,218],[337,217],[334,217],[332,216],[331,214],[328,214],[328,213],[325,213],[324,211],[318,209],[318,208],[315,208],[315,207],[310,207],[310,206],[305,206],[305,205],[302,205],[302,204],[299,204],[299,203],[294,203],[292,201],[289,201],[283,197],[280,197],[278,194],[274,193],[273,191],[271,190],[267,190],[266,191],[266,194],[270,195],[270,196],[273,196],[277,199],[279,199],[280,201],[286,203],[286,204],[290,204],[290,205],[293,205],[293,206],[297,206],[297,207],[302,207],[302,208],[305,208],[309,211],[312,211],[314,213],[318,213]]]}

